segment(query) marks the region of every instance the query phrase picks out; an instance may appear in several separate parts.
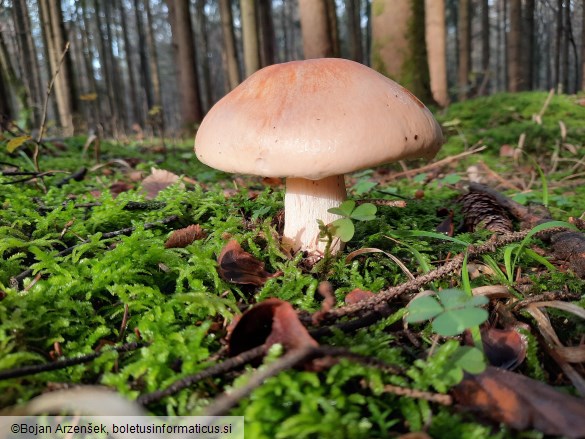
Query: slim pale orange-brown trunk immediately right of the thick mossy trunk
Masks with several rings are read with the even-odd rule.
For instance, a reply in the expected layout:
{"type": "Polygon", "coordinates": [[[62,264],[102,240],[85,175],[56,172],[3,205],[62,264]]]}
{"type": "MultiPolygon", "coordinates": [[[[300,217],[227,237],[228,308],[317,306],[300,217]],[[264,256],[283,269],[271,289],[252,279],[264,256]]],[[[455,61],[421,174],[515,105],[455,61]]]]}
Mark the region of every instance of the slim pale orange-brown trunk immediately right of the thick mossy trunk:
{"type": "Polygon", "coordinates": [[[426,0],[426,43],[433,98],[441,107],[449,104],[445,0],[426,0]]]}

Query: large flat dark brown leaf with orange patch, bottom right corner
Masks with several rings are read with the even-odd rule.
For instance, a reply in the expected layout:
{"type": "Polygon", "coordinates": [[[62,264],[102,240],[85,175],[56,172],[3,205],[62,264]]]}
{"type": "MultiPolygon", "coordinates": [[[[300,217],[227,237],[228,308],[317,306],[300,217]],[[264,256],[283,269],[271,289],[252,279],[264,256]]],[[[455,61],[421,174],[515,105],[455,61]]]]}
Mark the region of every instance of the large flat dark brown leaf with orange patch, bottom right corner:
{"type": "Polygon", "coordinates": [[[466,375],[452,393],[463,409],[517,430],[585,437],[582,399],[514,372],[488,366],[479,375],[466,375]]]}

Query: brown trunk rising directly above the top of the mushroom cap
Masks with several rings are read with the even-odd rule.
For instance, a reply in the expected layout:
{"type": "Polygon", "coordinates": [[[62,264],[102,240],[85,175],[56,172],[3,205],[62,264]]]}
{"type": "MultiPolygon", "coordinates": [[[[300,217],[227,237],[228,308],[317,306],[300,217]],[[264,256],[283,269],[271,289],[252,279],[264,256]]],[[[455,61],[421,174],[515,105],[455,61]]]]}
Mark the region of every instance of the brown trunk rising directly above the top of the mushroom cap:
{"type": "Polygon", "coordinates": [[[305,59],[334,55],[327,0],[299,0],[305,59]]]}

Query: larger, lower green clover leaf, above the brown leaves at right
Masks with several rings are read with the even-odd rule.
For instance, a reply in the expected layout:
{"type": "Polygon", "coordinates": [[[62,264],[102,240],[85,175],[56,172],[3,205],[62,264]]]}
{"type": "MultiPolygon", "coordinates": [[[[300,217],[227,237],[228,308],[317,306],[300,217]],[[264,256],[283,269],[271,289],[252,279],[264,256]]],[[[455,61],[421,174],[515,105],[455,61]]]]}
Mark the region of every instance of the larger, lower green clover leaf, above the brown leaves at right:
{"type": "Polygon", "coordinates": [[[463,290],[450,288],[434,296],[424,296],[408,305],[408,323],[433,319],[433,331],[443,337],[461,334],[466,329],[485,322],[488,313],[479,308],[487,304],[484,296],[470,297],[463,290]]]}

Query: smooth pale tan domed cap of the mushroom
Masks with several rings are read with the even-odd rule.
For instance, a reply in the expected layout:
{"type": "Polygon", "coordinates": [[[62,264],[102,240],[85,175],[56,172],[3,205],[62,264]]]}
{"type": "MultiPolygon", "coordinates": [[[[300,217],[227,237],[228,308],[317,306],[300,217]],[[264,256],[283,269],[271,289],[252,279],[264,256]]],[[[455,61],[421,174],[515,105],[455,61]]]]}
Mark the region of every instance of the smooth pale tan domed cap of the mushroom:
{"type": "Polygon", "coordinates": [[[223,171],[320,180],[443,143],[431,112],[401,85],[353,61],[265,67],[217,102],[195,137],[203,163],[223,171]]]}

